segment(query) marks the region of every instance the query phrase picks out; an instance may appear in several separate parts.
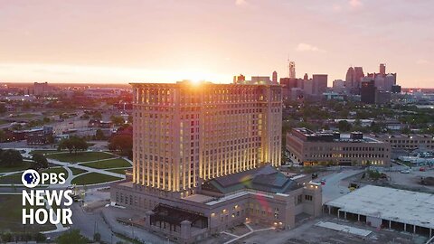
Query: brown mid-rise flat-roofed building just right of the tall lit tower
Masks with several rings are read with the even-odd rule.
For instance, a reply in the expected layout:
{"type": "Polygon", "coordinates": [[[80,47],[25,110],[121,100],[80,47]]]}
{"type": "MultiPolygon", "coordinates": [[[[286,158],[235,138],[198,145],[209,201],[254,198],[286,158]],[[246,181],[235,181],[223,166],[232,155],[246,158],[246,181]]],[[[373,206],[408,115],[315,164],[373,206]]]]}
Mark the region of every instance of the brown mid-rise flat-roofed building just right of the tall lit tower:
{"type": "Polygon", "coordinates": [[[297,164],[391,164],[391,145],[360,132],[348,135],[293,128],[287,134],[287,150],[297,164]]]}

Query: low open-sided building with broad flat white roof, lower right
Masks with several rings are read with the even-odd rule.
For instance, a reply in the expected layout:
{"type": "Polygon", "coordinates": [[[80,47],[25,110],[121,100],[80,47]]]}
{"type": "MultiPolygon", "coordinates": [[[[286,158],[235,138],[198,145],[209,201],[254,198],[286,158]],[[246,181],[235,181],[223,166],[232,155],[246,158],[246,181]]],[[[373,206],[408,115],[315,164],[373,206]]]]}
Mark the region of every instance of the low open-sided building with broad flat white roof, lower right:
{"type": "Polygon", "coordinates": [[[434,195],[366,185],[324,204],[323,211],[377,228],[434,235],[434,195]]]}

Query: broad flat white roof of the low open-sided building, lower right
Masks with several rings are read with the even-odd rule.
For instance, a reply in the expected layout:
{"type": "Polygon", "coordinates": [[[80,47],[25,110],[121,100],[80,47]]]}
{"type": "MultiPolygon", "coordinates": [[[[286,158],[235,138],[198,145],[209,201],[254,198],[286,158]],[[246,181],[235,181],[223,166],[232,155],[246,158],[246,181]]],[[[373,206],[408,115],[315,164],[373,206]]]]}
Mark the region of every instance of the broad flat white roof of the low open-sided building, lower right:
{"type": "Polygon", "coordinates": [[[366,185],[325,204],[341,211],[434,229],[434,195],[366,185]]]}

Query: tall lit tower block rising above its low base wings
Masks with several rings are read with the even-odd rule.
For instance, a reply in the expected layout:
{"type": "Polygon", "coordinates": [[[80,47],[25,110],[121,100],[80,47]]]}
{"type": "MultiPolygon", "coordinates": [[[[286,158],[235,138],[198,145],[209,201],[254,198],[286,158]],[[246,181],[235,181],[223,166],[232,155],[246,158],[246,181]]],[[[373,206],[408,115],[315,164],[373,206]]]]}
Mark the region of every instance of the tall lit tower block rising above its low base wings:
{"type": "Polygon", "coordinates": [[[133,183],[182,196],[203,180],[280,164],[280,86],[132,86],[133,183]]]}

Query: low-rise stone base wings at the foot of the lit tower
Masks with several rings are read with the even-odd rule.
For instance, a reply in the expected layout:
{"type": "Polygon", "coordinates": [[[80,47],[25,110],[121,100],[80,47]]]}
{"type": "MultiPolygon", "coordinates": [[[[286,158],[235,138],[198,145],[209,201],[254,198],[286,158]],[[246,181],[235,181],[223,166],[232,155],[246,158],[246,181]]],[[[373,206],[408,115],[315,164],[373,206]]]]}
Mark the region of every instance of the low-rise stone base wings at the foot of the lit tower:
{"type": "Polygon", "coordinates": [[[243,222],[290,229],[298,214],[322,214],[320,184],[297,183],[269,164],[206,181],[184,197],[119,183],[111,188],[111,202],[143,212],[143,228],[180,243],[193,243],[243,222]]]}

